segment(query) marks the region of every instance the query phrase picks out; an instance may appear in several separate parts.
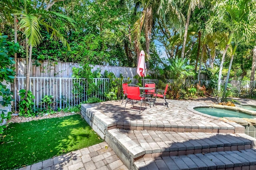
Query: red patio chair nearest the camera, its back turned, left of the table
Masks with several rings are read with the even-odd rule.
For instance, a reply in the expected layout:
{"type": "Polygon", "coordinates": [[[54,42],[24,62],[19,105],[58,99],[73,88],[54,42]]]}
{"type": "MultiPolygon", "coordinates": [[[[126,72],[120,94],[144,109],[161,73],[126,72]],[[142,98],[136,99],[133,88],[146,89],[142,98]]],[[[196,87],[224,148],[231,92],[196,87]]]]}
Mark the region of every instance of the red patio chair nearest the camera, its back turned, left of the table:
{"type": "MultiPolygon", "coordinates": [[[[126,94],[127,94],[127,98],[126,98],[126,102],[125,102],[125,106],[124,106],[124,111],[125,111],[126,104],[129,101],[132,102],[132,106],[134,107],[133,100],[140,101],[140,111],[141,111],[142,102],[144,102],[145,106],[146,106],[145,94],[140,94],[140,88],[138,86],[135,86],[135,87],[134,86],[126,86],[126,94]]],[[[147,108],[147,106],[146,106],[146,108],[147,108]]]]}

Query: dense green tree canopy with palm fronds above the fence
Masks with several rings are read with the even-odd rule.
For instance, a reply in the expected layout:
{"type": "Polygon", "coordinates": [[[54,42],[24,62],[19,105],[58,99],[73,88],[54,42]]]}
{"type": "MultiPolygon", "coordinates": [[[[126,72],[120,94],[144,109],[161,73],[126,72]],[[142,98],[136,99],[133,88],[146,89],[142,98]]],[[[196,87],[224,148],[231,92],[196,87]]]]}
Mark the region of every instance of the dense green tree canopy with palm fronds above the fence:
{"type": "Polygon", "coordinates": [[[220,77],[230,72],[231,78],[242,79],[252,68],[255,0],[3,2],[0,32],[14,41],[17,17],[21,58],[26,57],[30,37],[36,61],[136,67],[138,53],[144,50],[149,68],[166,74],[176,58],[186,58],[184,65],[195,66],[195,72],[220,67],[220,77]]]}

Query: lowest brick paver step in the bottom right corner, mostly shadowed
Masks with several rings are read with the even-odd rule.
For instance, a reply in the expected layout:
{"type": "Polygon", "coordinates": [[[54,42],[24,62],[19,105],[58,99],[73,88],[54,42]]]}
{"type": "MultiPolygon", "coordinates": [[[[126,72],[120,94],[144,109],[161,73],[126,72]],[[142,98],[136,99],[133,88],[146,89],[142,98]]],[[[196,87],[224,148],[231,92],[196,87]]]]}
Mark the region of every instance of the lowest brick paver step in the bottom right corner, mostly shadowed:
{"type": "Polygon", "coordinates": [[[136,170],[255,170],[256,150],[234,150],[140,158],[134,162],[136,170]]]}

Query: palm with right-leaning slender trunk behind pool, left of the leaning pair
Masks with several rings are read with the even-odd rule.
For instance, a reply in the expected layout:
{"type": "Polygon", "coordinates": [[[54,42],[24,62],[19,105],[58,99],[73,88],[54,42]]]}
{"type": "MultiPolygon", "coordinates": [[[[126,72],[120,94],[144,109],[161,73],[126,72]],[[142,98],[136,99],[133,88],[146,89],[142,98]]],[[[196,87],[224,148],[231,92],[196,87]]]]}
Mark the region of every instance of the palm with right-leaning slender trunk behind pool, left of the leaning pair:
{"type": "MultiPolygon", "coordinates": [[[[255,32],[256,0],[224,0],[218,1],[215,8],[215,15],[208,20],[208,30],[212,33],[213,26],[220,26],[220,29],[229,33],[228,42],[222,55],[220,71],[218,75],[218,91],[220,91],[222,68],[228,48],[233,40],[234,34],[240,32],[242,40],[250,39],[255,32]]],[[[236,36],[236,35],[235,35],[236,36]]]]}

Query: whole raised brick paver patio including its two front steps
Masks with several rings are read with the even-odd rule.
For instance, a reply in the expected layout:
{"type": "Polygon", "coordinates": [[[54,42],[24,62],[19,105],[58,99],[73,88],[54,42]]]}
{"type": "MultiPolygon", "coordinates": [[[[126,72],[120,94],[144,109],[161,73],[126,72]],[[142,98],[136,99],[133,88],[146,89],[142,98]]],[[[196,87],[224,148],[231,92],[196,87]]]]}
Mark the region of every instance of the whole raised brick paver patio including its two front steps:
{"type": "Polygon", "coordinates": [[[157,101],[140,114],[120,101],[83,104],[81,113],[128,169],[256,169],[256,139],[243,126],[193,109],[211,104],[157,101]]]}

